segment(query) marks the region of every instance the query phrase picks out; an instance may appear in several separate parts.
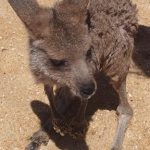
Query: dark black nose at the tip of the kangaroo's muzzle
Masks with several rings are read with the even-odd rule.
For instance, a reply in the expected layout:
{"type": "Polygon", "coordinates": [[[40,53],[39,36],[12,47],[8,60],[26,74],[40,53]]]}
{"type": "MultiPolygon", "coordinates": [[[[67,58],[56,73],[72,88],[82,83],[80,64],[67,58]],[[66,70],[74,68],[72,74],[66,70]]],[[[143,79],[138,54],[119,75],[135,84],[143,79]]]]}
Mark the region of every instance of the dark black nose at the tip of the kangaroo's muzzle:
{"type": "Polygon", "coordinates": [[[92,95],[94,91],[95,91],[95,84],[93,82],[83,84],[80,87],[80,94],[85,98],[92,95]]]}

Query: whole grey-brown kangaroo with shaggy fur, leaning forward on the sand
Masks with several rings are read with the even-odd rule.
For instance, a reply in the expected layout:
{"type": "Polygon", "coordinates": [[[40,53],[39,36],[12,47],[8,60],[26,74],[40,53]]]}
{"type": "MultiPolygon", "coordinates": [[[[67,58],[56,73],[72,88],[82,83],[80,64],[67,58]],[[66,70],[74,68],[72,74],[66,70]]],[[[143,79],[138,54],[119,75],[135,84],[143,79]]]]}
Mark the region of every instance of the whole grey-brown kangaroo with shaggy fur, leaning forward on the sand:
{"type": "Polygon", "coordinates": [[[126,76],[138,26],[136,7],[130,0],[63,0],[53,8],[40,8],[35,0],[9,3],[29,31],[30,68],[37,81],[45,85],[55,127],[65,132],[61,129],[63,116],[55,108],[52,85],[58,86],[58,95],[60,89],[68,88],[81,99],[72,125],[83,125],[87,100],[96,91],[94,74],[103,72],[120,98],[118,127],[111,149],[122,149],[132,117],[126,76]]]}

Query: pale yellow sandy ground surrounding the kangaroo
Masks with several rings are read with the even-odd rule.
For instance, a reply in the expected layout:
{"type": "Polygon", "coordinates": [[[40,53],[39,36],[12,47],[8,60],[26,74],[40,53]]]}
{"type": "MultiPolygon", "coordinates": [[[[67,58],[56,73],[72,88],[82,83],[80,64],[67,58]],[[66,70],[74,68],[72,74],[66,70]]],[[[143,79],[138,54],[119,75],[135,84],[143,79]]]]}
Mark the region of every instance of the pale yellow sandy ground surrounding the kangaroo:
{"type": "MultiPolygon", "coordinates": [[[[127,90],[134,117],[124,150],[150,150],[150,1],[133,0],[139,8],[138,49],[127,90]]],[[[52,1],[43,0],[42,4],[52,1]]],[[[105,88],[104,88],[105,89],[105,88]]],[[[105,98],[107,101],[107,97],[105,98]]],[[[27,33],[7,0],[0,0],[0,150],[23,150],[47,119],[48,100],[28,68],[27,33]]],[[[74,141],[53,133],[43,150],[108,150],[115,132],[115,110],[94,109],[86,139],[74,141]]]]}

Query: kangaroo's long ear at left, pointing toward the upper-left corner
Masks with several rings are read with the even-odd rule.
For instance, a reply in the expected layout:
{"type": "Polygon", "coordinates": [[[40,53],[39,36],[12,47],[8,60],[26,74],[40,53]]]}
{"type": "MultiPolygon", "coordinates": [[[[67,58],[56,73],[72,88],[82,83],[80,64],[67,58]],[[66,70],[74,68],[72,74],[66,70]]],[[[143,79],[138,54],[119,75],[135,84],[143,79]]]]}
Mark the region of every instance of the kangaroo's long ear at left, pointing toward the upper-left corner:
{"type": "Polygon", "coordinates": [[[8,0],[33,36],[46,36],[52,18],[51,9],[40,8],[36,0],[8,0]]]}

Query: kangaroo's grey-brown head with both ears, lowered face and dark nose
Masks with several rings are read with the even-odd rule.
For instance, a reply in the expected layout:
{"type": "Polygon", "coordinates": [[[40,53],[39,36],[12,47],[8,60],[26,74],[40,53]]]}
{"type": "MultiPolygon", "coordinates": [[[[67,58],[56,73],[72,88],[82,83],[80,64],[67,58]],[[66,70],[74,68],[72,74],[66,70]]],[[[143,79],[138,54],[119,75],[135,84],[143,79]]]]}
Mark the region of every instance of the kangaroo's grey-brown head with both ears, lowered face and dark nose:
{"type": "Polygon", "coordinates": [[[30,66],[36,79],[67,86],[75,96],[89,98],[96,83],[86,24],[88,0],[63,0],[53,8],[40,8],[34,0],[30,5],[21,3],[27,0],[19,2],[23,8],[34,4],[29,11],[15,10],[29,31],[30,66]]]}

